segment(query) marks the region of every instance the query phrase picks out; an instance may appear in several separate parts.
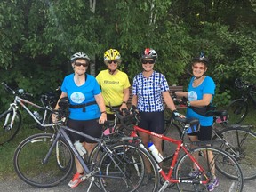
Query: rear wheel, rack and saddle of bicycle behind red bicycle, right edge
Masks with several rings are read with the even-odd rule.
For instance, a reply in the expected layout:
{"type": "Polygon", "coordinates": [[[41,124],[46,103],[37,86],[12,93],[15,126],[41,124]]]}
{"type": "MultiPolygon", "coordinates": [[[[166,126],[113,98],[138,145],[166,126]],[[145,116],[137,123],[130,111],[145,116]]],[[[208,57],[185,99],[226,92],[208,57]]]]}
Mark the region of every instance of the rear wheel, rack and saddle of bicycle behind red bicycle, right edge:
{"type": "Polygon", "coordinates": [[[214,124],[218,122],[222,125],[220,129],[213,125],[212,140],[221,140],[222,148],[231,156],[236,158],[236,161],[241,167],[244,175],[244,180],[253,180],[256,178],[256,155],[254,153],[254,145],[256,143],[256,133],[252,131],[252,125],[227,124],[227,111],[213,112],[214,124]]]}

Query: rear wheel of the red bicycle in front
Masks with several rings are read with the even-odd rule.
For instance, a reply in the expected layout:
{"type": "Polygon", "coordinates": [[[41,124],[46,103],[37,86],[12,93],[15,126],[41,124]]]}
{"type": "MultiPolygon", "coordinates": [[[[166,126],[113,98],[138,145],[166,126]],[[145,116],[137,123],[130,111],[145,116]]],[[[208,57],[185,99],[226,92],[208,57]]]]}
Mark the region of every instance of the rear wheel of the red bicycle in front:
{"type": "Polygon", "coordinates": [[[180,180],[180,183],[177,183],[179,191],[208,191],[209,184],[213,180],[212,173],[214,173],[214,170],[217,180],[219,180],[219,185],[215,186],[214,192],[242,191],[244,187],[243,173],[236,159],[227,152],[219,148],[199,147],[189,150],[189,154],[195,156],[198,164],[204,168],[204,172],[198,171],[191,174],[192,160],[188,154],[181,156],[174,169],[175,179],[180,180]],[[211,158],[211,155],[213,155],[213,158],[211,158]],[[213,160],[210,161],[210,159],[213,160]],[[220,169],[229,172],[235,179],[230,179],[225,174],[222,174],[220,169]]]}

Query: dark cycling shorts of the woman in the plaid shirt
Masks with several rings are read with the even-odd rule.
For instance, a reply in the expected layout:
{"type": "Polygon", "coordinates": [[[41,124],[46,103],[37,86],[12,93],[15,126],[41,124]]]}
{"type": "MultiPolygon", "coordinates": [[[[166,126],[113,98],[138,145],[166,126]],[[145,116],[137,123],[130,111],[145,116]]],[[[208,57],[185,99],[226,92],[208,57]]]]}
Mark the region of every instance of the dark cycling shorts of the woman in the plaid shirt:
{"type": "Polygon", "coordinates": [[[158,134],[164,133],[164,111],[140,112],[140,128],[158,134]]]}

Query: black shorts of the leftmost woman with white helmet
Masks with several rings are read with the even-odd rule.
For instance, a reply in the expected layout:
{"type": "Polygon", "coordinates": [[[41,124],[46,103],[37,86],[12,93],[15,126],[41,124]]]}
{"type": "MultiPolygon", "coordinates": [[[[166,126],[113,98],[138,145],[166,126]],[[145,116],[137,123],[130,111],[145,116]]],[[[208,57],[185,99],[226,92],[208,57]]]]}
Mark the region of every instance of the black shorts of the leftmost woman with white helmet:
{"type": "MultiPolygon", "coordinates": [[[[100,138],[102,135],[102,125],[99,124],[98,119],[92,120],[73,120],[68,119],[67,126],[71,129],[74,129],[78,132],[84,132],[95,138],[100,138]]],[[[95,143],[93,140],[89,140],[84,138],[81,135],[76,134],[75,132],[68,132],[68,135],[71,141],[74,143],[76,140],[80,140],[80,142],[87,142],[87,143],[95,143]]]]}

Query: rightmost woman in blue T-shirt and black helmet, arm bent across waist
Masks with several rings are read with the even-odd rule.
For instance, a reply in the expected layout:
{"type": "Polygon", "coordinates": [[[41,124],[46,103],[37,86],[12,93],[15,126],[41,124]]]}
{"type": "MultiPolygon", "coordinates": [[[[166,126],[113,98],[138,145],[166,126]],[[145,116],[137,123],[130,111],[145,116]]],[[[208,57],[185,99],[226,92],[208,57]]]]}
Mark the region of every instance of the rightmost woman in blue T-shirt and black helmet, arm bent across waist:
{"type": "MultiPolygon", "coordinates": [[[[198,118],[200,122],[200,131],[189,133],[188,137],[191,141],[196,140],[212,140],[212,124],[213,116],[207,116],[207,110],[212,103],[215,93],[215,83],[210,76],[206,76],[209,65],[209,59],[201,53],[199,57],[192,60],[193,77],[188,84],[188,92],[176,92],[178,97],[188,98],[186,117],[198,118]]],[[[210,154],[209,158],[213,158],[210,154]]],[[[214,190],[219,185],[219,180],[215,176],[215,167],[212,166],[212,182],[207,186],[209,191],[214,190]]],[[[188,175],[196,177],[198,174],[196,166],[194,171],[188,175]]]]}

